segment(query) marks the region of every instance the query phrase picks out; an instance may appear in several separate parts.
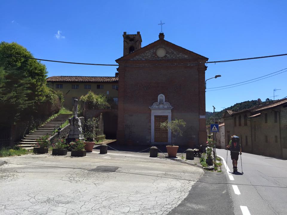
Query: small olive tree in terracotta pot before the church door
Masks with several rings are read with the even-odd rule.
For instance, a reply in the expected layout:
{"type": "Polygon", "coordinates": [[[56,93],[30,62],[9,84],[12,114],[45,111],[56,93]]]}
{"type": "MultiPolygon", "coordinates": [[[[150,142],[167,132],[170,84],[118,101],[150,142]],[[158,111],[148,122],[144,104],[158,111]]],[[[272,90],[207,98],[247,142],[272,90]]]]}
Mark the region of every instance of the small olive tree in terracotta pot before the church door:
{"type": "Polygon", "coordinates": [[[161,129],[167,129],[171,131],[172,138],[171,143],[172,145],[167,145],[167,154],[169,157],[176,157],[176,153],[178,150],[178,146],[174,145],[173,137],[174,136],[182,136],[182,128],[185,127],[186,122],[183,119],[175,119],[170,122],[161,122],[161,129]]]}

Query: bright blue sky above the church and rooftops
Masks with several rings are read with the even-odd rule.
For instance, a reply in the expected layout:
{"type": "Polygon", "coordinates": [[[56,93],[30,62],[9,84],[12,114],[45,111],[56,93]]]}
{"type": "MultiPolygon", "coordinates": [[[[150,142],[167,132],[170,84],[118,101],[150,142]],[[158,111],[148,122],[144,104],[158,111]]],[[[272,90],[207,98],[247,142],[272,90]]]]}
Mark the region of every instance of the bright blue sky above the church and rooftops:
{"type": "MultiPolygon", "coordinates": [[[[36,58],[115,64],[123,31],[141,32],[142,46],[165,39],[209,61],[287,53],[287,1],[2,1],[0,39],[17,42],[36,58]],[[59,31],[59,33],[58,33],[59,31]]],[[[42,62],[48,76],[114,76],[116,67],[42,62]]],[[[207,88],[287,68],[287,56],[208,64],[207,88]]],[[[287,96],[287,72],[251,84],[206,92],[206,110],[287,96]]]]}

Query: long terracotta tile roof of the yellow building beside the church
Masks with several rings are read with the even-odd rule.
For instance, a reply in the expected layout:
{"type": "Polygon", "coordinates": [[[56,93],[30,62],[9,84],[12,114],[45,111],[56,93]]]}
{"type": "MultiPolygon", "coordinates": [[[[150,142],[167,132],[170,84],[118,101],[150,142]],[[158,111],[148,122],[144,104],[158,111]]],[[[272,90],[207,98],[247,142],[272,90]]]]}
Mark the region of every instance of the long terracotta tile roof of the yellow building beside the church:
{"type": "Polygon", "coordinates": [[[54,82],[118,82],[118,77],[101,76],[51,76],[47,81],[54,82]]]}

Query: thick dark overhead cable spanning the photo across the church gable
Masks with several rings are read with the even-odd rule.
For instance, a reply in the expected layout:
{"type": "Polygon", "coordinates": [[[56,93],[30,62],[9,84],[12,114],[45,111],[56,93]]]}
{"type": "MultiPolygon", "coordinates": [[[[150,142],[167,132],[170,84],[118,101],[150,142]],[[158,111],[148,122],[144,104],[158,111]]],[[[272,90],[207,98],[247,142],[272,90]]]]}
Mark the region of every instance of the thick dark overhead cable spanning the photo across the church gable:
{"type": "MultiPolygon", "coordinates": [[[[224,63],[224,62],[233,62],[233,61],[242,61],[242,60],[253,60],[253,59],[260,59],[260,58],[270,58],[270,57],[279,57],[279,56],[286,56],[287,54],[278,54],[278,55],[269,55],[269,56],[261,56],[261,57],[252,57],[252,58],[242,58],[242,59],[231,59],[231,60],[221,60],[221,61],[210,61],[210,62],[198,62],[198,63],[173,63],[173,64],[158,64],[158,65],[185,65],[185,64],[208,64],[208,63],[224,63]]],[[[30,58],[18,55],[5,55],[6,57],[20,57],[25,59],[32,59],[32,60],[40,60],[40,61],[48,61],[48,62],[57,62],[57,63],[67,63],[67,64],[82,64],[82,65],[93,65],[93,66],[119,66],[118,64],[95,64],[95,63],[78,63],[78,62],[66,62],[66,61],[57,61],[57,60],[47,60],[47,59],[40,59],[40,58],[30,58]]],[[[138,66],[149,66],[151,64],[138,64],[138,66]]],[[[125,65],[129,66],[129,65],[125,65]]],[[[136,65],[130,65],[136,66],[136,65]]]]}

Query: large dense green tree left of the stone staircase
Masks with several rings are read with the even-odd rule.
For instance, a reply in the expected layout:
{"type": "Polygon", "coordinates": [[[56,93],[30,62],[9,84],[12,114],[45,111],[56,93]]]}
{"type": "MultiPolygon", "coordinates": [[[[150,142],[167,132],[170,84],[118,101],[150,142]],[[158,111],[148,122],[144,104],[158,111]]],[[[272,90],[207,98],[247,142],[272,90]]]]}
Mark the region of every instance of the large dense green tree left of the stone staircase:
{"type": "Polygon", "coordinates": [[[46,101],[55,103],[57,94],[46,86],[44,64],[17,43],[0,43],[0,126],[13,125],[41,113],[46,101]],[[17,57],[22,56],[22,57],[17,57]]]}

